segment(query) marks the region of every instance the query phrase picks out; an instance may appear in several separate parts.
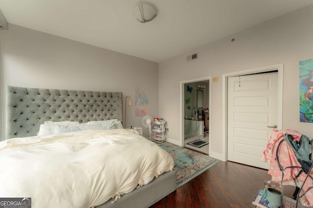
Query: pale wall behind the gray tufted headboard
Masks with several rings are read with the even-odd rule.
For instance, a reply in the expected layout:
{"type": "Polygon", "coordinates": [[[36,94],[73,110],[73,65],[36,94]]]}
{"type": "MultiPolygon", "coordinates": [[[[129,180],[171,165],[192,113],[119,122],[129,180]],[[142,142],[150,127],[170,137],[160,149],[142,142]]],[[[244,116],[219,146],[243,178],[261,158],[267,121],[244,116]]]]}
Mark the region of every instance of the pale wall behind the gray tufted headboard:
{"type": "MultiPolygon", "coordinates": [[[[147,87],[149,114],[158,116],[156,62],[9,24],[9,30],[0,31],[0,64],[2,130],[8,85],[122,92],[123,102],[125,96],[135,98],[137,87],[147,87]]],[[[135,117],[134,109],[127,107],[128,127],[142,126],[143,117],[135,117]]],[[[1,135],[4,139],[5,132],[1,135]]]]}

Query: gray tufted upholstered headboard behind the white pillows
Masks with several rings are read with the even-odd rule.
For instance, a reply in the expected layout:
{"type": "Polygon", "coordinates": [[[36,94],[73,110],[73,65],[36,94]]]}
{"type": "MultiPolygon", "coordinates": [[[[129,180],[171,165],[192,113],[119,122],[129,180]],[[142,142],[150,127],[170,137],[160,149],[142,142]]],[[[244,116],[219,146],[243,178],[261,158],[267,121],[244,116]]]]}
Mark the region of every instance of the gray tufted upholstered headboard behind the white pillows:
{"type": "Polygon", "coordinates": [[[34,136],[47,120],[122,121],[121,92],[52,90],[8,86],[7,139],[34,136]]]}

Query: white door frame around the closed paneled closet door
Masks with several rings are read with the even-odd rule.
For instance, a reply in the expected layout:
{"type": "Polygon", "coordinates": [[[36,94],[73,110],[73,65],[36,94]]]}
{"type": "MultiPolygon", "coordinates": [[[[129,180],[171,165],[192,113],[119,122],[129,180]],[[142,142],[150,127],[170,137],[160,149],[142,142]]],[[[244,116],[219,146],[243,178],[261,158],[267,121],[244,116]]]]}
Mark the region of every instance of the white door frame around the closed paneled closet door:
{"type": "Polygon", "coordinates": [[[272,66],[260,67],[256,69],[249,69],[239,72],[232,72],[223,74],[223,88],[222,88],[222,161],[227,161],[227,78],[231,76],[251,75],[262,72],[278,71],[277,80],[277,129],[283,127],[283,64],[276,64],[272,66]]]}

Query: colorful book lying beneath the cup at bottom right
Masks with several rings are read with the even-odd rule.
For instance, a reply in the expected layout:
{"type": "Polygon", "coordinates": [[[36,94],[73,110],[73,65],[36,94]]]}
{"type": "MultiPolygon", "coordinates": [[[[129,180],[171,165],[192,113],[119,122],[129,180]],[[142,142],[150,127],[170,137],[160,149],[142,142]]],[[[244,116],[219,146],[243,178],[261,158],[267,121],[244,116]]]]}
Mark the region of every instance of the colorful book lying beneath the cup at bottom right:
{"type": "MultiPolygon", "coordinates": [[[[283,195],[283,206],[277,207],[268,202],[266,190],[260,189],[258,194],[254,197],[252,204],[257,208],[295,208],[296,200],[283,195]]],[[[298,203],[298,208],[304,207],[298,203]]]]}

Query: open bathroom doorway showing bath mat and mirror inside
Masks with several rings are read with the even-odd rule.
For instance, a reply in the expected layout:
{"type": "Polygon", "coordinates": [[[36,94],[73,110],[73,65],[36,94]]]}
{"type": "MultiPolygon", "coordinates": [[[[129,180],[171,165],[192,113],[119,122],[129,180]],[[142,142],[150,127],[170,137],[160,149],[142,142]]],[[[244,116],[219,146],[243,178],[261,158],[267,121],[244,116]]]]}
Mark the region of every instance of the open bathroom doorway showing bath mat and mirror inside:
{"type": "Polygon", "coordinates": [[[181,82],[182,146],[209,154],[211,77],[181,82]]]}

